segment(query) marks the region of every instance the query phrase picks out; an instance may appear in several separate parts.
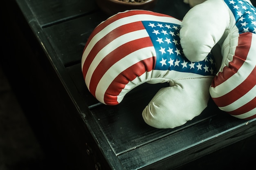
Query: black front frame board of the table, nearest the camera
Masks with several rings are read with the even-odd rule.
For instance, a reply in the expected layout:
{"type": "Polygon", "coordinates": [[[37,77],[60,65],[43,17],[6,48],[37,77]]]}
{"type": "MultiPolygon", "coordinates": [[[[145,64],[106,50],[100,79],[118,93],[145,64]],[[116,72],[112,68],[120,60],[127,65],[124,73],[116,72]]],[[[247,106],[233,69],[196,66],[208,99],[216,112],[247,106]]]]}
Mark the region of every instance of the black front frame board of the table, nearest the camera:
{"type": "Polygon", "coordinates": [[[255,134],[255,119],[225,117],[218,115],[118,157],[125,170],[154,167],[170,170],[255,134]]]}

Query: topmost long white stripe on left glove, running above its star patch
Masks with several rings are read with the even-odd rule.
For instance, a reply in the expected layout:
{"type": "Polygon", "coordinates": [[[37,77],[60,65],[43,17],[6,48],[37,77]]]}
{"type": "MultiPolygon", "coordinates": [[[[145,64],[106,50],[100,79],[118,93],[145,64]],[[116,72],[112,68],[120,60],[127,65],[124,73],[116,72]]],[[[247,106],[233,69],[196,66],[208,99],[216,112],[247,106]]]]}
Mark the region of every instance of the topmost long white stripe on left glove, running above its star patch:
{"type": "Polygon", "coordinates": [[[104,29],[102,29],[99,33],[97,33],[92,40],[89,42],[88,46],[86,47],[84,53],[83,53],[83,57],[82,57],[82,70],[83,70],[83,64],[85,62],[86,57],[88,56],[88,54],[90,53],[90,51],[92,50],[93,46],[99,41],[101,40],[101,38],[103,38],[105,35],[107,35],[108,33],[110,33],[113,29],[128,24],[128,23],[132,23],[132,22],[137,22],[137,21],[158,21],[158,22],[168,22],[168,23],[174,23],[174,24],[181,24],[180,20],[177,20],[176,18],[171,18],[171,17],[164,17],[164,16],[155,16],[155,15],[148,15],[148,14],[138,14],[138,15],[132,15],[132,16],[128,16],[125,18],[121,18],[119,20],[116,20],[115,22],[112,22],[111,24],[109,24],[108,26],[106,26],[104,29]]]}

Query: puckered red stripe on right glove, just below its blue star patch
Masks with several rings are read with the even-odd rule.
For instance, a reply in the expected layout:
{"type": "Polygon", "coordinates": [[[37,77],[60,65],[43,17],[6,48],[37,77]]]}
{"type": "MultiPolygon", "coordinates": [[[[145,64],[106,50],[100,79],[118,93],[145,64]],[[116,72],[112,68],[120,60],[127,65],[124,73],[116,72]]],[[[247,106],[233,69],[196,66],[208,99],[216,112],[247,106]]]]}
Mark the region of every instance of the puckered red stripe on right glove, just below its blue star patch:
{"type": "Polygon", "coordinates": [[[236,47],[235,55],[233,57],[233,61],[229,62],[229,66],[225,66],[222,72],[219,72],[213,79],[211,84],[212,87],[216,87],[227,79],[229,79],[232,75],[237,73],[239,68],[245,62],[247,55],[249,53],[250,44],[252,43],[252,33],[242,33],[238,37],[238,46],[236,47]]]}

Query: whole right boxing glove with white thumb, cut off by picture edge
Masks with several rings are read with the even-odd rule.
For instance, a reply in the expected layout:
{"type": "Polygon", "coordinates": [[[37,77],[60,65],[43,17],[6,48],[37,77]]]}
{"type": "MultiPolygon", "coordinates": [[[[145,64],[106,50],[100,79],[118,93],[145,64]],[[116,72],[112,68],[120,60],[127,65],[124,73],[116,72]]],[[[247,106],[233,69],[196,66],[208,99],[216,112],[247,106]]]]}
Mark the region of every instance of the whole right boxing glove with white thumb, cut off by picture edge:
{"type": "Polygon", "coordinates": [[[186,13],[180,42],[202,61],[220,44],[222,63],[210,86],[217,106],[240,119],[256,117],[256,8],[249,0],[207,0],[186,13]]]}

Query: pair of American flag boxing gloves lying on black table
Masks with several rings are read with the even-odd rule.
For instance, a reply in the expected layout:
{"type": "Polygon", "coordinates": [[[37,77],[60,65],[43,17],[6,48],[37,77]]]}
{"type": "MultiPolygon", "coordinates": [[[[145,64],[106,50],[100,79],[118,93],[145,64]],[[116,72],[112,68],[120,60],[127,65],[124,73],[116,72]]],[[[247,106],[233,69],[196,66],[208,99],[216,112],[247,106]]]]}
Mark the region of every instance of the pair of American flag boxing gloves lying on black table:
{"type": "Polygon", "coordinates": [[[210,97],[230,115],[253,119],[256,8],[249,0],[206,0],[182,21],[152,11],[118,13],[94,29],[81,64],[90,93],[107,105],[145,82],[168,82],[142,112],[155,128],[185,124],[210,97]]]}

